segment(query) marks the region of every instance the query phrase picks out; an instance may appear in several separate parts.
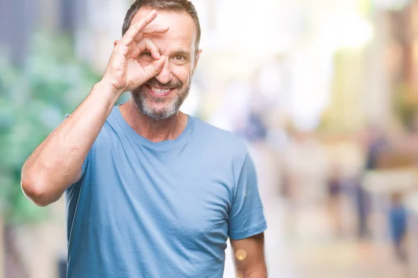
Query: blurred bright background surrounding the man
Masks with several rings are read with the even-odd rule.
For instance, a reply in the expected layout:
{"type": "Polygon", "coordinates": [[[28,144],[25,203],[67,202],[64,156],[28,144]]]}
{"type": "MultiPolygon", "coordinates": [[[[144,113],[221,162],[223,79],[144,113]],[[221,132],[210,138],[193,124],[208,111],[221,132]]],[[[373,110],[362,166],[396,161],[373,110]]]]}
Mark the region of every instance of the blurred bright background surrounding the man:
{"type": "MultiPolygon", "coordinates": [[[[247,140],[270,277],[418,277],[418,1],[192,2],[183,111],[247,140]]],[[[20,170],[100,80],[131,3],[0,0],[0,278],[65,277],[64,200],[31,204],[20,170]]]]}

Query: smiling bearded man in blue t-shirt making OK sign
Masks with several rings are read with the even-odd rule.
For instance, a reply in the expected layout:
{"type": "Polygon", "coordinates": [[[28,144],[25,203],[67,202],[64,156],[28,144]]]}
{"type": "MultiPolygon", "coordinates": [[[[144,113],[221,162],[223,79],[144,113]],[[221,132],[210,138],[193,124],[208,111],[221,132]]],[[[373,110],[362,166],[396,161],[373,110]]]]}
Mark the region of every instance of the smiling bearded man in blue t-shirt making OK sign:
{"type": "Polygon", "coordinates": [[[245,144],[178,111],[200,33],[189,1],[136,1],[102,80],[24,164],[34,203],[65,193],[69,278],[222,277],[228,237],[238,277],[267,276],[245,144]]]}

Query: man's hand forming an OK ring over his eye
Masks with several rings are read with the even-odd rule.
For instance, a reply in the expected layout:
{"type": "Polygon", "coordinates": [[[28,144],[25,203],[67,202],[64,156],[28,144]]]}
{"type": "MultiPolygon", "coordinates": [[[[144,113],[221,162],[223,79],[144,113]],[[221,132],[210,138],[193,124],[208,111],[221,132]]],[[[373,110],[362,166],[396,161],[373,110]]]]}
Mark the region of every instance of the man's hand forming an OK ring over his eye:
{"type": "Polygon", "coordinates": [[[114,47],[102,81],[111,85],[118,95],[138,88],[162,70],[165,57],[160,56],[157,45],[146,35],[166,33],[169,26],[149,25],[155,17],[157,17],[157,12],[153,10],[139,22],[130,26],[121,41],[117,42],[114,47]],[[141,67],[137,58],[144,51],[153,56],[153,63],[141,67]]]}

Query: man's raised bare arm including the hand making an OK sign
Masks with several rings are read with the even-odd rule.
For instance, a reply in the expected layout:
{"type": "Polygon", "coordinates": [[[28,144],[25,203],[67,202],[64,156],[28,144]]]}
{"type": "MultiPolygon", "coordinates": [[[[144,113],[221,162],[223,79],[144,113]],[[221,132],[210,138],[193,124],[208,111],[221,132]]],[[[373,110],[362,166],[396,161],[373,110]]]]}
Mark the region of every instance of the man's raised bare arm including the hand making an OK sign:
{"type": "Polygon", "coordinates": [[[118,97],[145,83],[162,69],[165,59],[160,59],[157,45],[151,40],[143,40],[144,35],[167,32],[168,26],[148,26],[156,16],[157,12],[153,10],[129,28],[115,45],[102,81],[24,163],[22,190],[35,204],[47,206],[56,202],[65,189],[81,178],[84,159],[118,97]],[[146,49],[155,60],[141,67],[136,59],[146,49]]]}

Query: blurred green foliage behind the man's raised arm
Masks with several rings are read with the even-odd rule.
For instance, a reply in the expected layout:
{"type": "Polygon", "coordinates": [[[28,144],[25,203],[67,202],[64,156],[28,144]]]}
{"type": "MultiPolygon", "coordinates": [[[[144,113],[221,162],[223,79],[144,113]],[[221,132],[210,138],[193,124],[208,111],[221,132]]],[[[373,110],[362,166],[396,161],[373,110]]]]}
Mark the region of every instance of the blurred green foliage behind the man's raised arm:
{"type": "Polygon", "coordinates": [[[24,197],[20,171],[26,158],[71,113],[100,79],[75,58],[70,40],[38,34],[22,68],[0,56],[0,213],[6,222],[41,220],[46,208],[24,197]]]}

